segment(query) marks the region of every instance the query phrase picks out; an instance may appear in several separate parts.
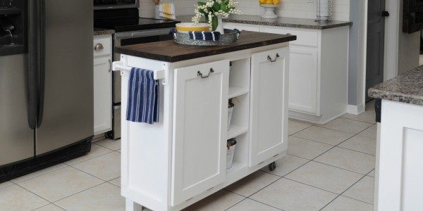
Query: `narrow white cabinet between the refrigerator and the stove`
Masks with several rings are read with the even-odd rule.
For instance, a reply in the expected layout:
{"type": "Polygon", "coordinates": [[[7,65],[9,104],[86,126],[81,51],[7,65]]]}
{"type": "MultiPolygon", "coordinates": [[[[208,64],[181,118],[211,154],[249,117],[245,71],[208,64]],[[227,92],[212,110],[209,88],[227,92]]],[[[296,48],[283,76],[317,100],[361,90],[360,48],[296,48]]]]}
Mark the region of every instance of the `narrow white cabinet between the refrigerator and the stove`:
{"type": "Polygon", "coordinates": [[[94,37],[94,135],[111,130],[111,35],[94,37]]]}

